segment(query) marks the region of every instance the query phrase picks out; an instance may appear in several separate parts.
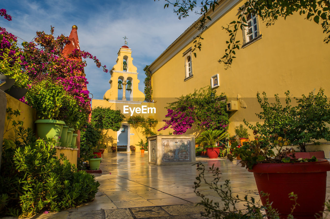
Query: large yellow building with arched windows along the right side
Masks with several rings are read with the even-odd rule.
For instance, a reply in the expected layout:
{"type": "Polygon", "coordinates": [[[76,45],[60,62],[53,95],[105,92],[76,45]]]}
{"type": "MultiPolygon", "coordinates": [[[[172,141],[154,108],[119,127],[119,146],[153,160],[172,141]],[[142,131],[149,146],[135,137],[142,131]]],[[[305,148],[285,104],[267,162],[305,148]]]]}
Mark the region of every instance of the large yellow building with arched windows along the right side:
{"type": "MultiPolygon", "coordinates": [[[[230,134],[234,134],[235,126],[243,124],[244,118],[252,124],[260,121],[255,115],[261,111],[256,100],[257,91],[265,91],[270,101],[274,94],[284,97],[287,90],[292,97],[300,97],[314,89],[318,91],[320,87],[330,96],[329,45],[323,43],[325,35],[320,25],[306,21],[298,13],[286,20],[280,18],[271,27],[266,27],[266,23],[258,16],[248,17],[247,29],[251,31],[239,30],[236,40],[241,41],[241,48],[231,68],[224,70],[224,65],[219,64],[218,60],[224,55],[229,37],[222,26],[226,27],[237,19],[241,13],[239,7],[244,3],[223,0],[214,12],[210,10],[208,15],[212,21],[206,23],[208,29],[202,35],[202,48],[196,51],[197,57],[194,57],[192,48],[193,37],[199,35],[195,28],[198,21],[150,64],[152,99],[159,121],[157,129],[164,125],[161,121],[167,114],[164,107],[168,102],[161,100],[180,97],[207,85],[214,86],[215,79],[216,93],[224,92],[228,101],[238,103],[238,110],[229,115],[230,134]]],[[[161,133],[168,134],[168,131],[161,133]]],[[[186,132],[195,133],[196,129],[186,132]]],[[[313,147],[309,146],[308,150],[313,150],[313,147]]],[[[324,150],[326,157],[329,157],[328,147],[324,150]]]]}

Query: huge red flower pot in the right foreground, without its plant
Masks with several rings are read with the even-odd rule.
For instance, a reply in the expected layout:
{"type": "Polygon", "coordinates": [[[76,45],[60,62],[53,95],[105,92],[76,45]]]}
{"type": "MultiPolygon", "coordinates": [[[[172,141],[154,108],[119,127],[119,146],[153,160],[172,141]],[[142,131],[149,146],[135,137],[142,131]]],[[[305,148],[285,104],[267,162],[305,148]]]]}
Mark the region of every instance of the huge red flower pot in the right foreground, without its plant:
{"type": "MultiPolygon", "coordinates": [[[[304,163],[259,163],[248,171],[253,172],[259,195],[261,191],[269,194],[269,202],[278,209],[281,218],[286,218],[294,204],[288,194],[297,194],[299,206],[293,217],[299,219],[314,218],[316,213],[322,215],[329,170],[330,163],[319,159],[304,163]]],[[[266,205],[266,197],[261,197],[261,202],[266,205]]]]}

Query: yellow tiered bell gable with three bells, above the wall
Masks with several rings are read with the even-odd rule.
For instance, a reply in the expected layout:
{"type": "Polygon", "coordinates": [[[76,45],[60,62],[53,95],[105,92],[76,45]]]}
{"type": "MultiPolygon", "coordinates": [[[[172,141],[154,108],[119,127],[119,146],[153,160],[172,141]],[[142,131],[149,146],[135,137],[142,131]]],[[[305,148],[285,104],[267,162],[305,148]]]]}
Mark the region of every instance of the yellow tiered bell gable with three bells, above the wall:
{"type": "Polygon", "coordinates": [[[118,100],[118,90],[122,90],[122,101],[126,101],[125,93],[128,90],[130,101],[145,100],[144,93],[139,90],[139,73],[137,67],[133,65],[132,51],[128,46],[119,49],[116,64],[110,74],[110,89],[104,94],[103,99],[118,100]]]}

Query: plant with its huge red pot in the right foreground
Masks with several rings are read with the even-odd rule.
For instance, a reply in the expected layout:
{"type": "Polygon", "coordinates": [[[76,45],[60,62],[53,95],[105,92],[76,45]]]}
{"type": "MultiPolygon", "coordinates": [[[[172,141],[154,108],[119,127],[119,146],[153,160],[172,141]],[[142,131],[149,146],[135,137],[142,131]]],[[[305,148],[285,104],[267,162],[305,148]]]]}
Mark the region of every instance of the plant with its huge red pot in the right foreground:
{"type": "MultiPolygon", "coordinates": [[[[322,215],[325,202],[326,176],[330,170],[330,163],[325,159],[295,158],[293,148],[284,148],[291,145],[290,140],[275,135],[274,144],[261,148],[258,141],[247,143],[248,149],[231,145],[233,155],[242,158],[242,167],[253,172],[262,204],[267,204],[268,194],[272,207],[277,209],[282,218],[286,218],[295,204],[292,199],[285,199],[289,193],[298,195],[297,203],[293,211],[295,218],[314,218],[314,214],[322,215]],[[275,154],[271,149],[276,147],[279,153],[275,154]],[[292,153],[288,157],[288,153],[292,153]],[[311,202],[313,197],[313,202],[311,202]]],[[[232,156],[228,156],[230,160],[232,156]]]]}

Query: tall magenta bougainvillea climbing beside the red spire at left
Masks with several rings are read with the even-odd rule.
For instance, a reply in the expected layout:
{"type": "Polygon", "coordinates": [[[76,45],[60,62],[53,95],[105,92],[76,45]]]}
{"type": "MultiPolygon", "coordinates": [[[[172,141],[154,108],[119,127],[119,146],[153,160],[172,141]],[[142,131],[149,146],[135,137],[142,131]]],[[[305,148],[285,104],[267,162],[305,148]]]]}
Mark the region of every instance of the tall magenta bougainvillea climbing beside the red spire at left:
{"type": "MultiPolygon", "coordinates": [[[[4,9],[0,10],[0,15],[11,20],[11,16],[4,9]]],[[[32,42],[22,42],[22,48],[18,48],[17,38],[8,33],[5,28],[0,27],[1,69],[5,69],[5,74],[15,78],[23,87],[31,88],[42,81],[51,81],[54,84],[53,88],[63,87],[66,95],[71,96],[77,102],[79,110],[88,115],[91,99],[89,91],[86,89],[88,82],[83,71],[86,63],[81,58],[92,59],[97,67],[103,67],[104,72],[108,72],[108,70],[95,56],[79,49],[75,49],[65,56],[63,54],[64,46],[71,41],[64,35],[55,37],[53,33],[54,27],[52,26],[50,34],[38,31],[32,42]]],[[[32,106],[30,100],[31,98],[24,97],[21,99],[22,102],[32,106]]],[[[72,105],[71,102],[70,104],[72,105]]],[[[72,116],[70,110],[66,111],[71,105],[63,105],[62,113],[66,116],[72,116]]]]}

